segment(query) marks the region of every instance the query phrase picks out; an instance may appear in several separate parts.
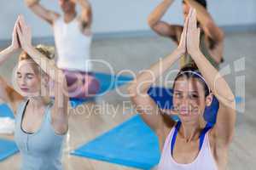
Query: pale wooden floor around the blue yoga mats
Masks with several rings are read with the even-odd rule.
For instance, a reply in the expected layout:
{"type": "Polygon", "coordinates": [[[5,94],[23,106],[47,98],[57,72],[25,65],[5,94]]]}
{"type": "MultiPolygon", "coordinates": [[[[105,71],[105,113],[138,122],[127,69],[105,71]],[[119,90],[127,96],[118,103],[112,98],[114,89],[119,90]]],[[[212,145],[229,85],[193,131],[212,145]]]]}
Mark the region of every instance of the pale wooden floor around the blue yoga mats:
{"type": "MultiPolygon", "coordinates": [[[[170,54],[175,44],[170,40],[160,37],[131,37],[104,39],[93,42],[93,58],[105,59],[113,65],[116,73],[123,69],[139,71],[147,68],[160,57],[170,54]]],[[[15,65],[17,55],[12,56],[9,61],[0,68],[1,75],[10,82],[10,73],[15,65]]],[[[231,87],[235,91],[235,77],[246,75],[245,83],[245,111],[237,114],[236,136],[230,147],[230,170],[253,170],[256,167],[256,33],[228,34],[225,40],[224,50],[225,62],[222,67],[230,65],[231,74],[226,76],[231,87]],[[245,71],[235,72],[234,61],[244,57],[246,59],[245,71]]],[[[175,65],[173,68],[177,68],[175,65]]],[[[95,65],[96,71],[109,71],[108,67],[95,65]]],[[[174,76],[174,75],[173,75],[174,76]]],[[[120,91],[125,92],[125,87],[120,91]]],[[[117,92],[110,92],[104,95],[97,104],[86,104],[77,110],[70,110],[69,133],[64,148],[63,164],[68,170],[123,170],[133,169],[122,167],[103,161],[94,161],[77,156],[70,156],[68,153],[84,144],[90,139],[107,132],[109,129],[119,125],[128,119],[134,111],[123,107],[123,102],[128,98],[120,96],[117,92]],[[116,111],[105,108],[112,105],[116,111]],[[88,109],[86,111],[86,108],[88,109]],[[93,114],[91,114],[93,111],[93,114]],[[90,115],[91,114],[91,115],[90,115]]],[[[244,104],[244,103],[243,103],[244,104]]],[[[243,107],[243,104],[240,107],[243,107]]],[[[13,139],[13,136],[0,136],[13,139]]],[[[124,143],[125,144],[125,143],[124,143]]],[[[18,169],[20,166],[20,154],[11,156],[9,159],[0,162],[0,169],[18,169]]]]}

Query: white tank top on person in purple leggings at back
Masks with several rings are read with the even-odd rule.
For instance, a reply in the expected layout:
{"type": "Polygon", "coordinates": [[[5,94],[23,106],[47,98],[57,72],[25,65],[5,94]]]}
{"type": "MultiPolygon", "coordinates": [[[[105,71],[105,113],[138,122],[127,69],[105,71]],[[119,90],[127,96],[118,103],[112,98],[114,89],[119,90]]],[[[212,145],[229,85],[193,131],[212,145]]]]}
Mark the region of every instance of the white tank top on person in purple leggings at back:
{"type": "Polygon", "coordinates": [[[55,46],[57,48],[57,65],[71,71],[90,71],[90,45],[92,36],[85,36],[76,18],[65,23],[63,17],[55,20],[55,46]]]}

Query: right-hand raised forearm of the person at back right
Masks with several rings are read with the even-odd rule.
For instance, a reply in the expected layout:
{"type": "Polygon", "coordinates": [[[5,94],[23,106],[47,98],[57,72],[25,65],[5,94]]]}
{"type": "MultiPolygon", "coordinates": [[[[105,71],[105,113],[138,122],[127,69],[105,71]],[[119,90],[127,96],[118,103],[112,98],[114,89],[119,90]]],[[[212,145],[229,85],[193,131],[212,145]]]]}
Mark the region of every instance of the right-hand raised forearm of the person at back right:
{"type": "Polygon", "coordinates": [[[184,0],[190,7],[195,8],[196,16],[202,26],[207,26],[209,21],[212,21],[211,14],[208,13],[207,8],[204,8],[200,3],[195,0],[184,0]]]}

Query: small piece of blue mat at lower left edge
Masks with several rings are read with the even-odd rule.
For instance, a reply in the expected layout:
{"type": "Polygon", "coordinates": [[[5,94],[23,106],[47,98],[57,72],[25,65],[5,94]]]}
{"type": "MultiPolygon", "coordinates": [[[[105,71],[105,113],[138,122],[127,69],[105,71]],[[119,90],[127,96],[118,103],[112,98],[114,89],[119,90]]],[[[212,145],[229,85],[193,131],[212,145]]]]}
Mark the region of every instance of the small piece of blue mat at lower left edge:
{"type": "Polygon", "coordinates": [[[9,156],[15,155],[17,152],[19,152],[19,149],[15,142],[7,139],[0,139],[0,161],[5,160],[9,156]]]}

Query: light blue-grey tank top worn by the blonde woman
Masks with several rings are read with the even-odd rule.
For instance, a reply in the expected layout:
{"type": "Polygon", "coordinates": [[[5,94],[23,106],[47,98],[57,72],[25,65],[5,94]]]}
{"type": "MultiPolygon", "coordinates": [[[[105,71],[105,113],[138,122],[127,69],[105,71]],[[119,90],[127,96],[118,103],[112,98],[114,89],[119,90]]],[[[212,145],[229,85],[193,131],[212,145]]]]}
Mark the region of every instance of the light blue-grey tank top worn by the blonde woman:
{"type": "Polygon", "coordinates": [[[44,120],[36,133],[26,133],[21,122],[26,110],[22,102],[15,119],[15,142],[20,150],[21,170],[61,170],[61,152],[65,135],[55,133],[51,125],[50,103],[44,113],[44,120]]]}

